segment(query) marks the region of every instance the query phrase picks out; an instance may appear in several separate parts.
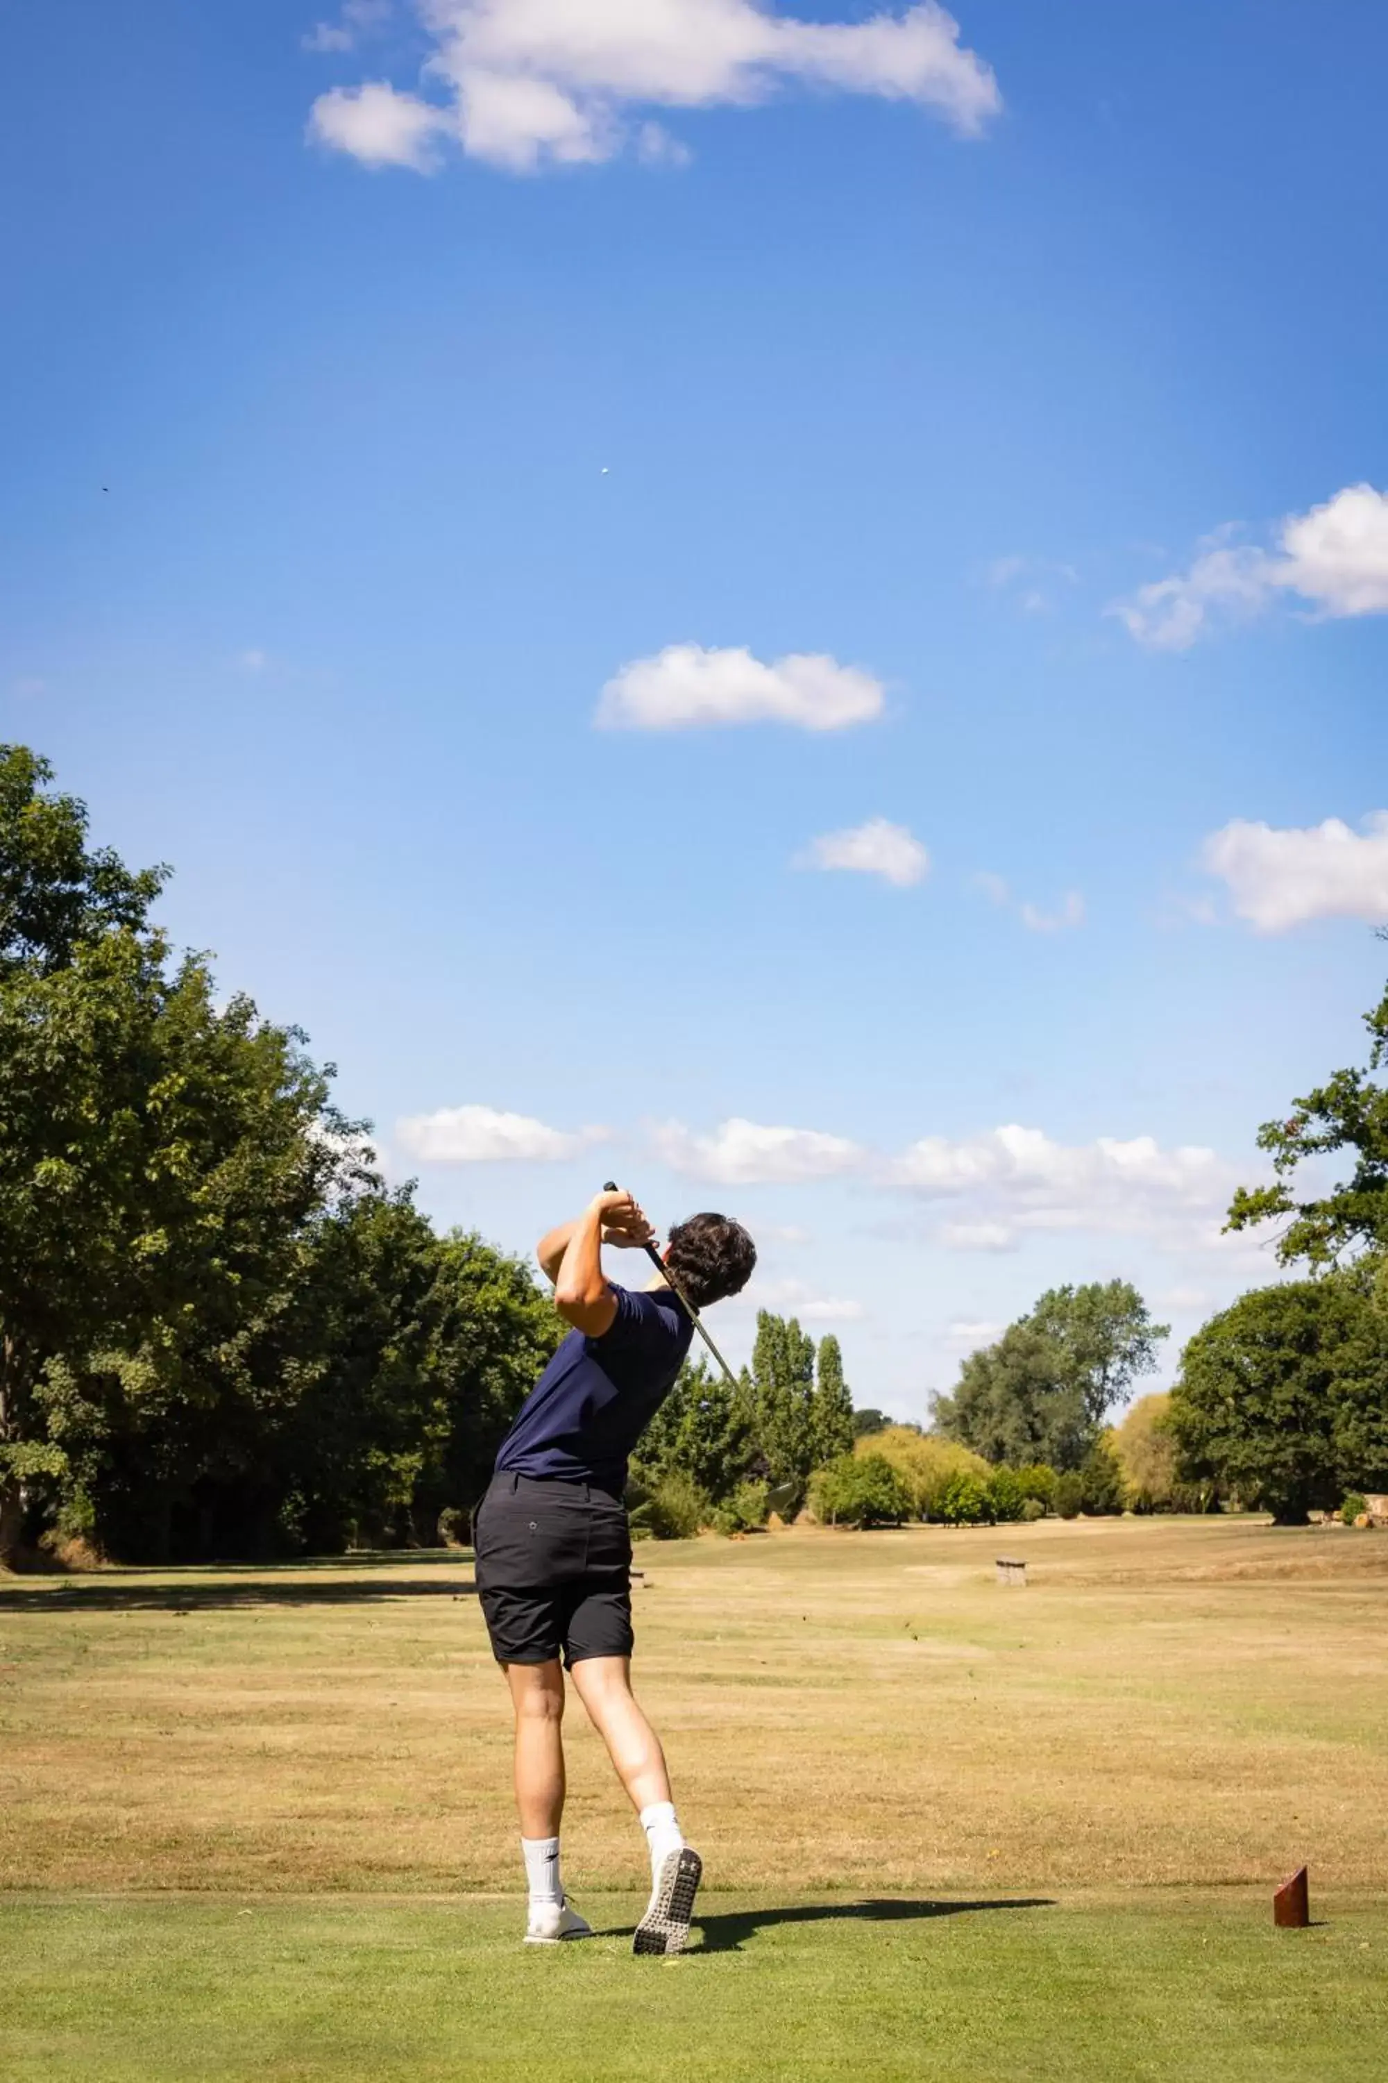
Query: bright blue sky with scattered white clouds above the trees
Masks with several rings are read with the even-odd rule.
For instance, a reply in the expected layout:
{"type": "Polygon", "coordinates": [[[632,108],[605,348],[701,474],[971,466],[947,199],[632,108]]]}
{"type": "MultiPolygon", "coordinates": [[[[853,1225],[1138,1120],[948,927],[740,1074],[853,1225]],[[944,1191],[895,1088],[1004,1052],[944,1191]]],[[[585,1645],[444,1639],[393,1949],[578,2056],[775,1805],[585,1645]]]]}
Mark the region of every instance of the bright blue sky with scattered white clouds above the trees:
{"type": "Polygon", "coordinates": [[[1388,21],[4,40],[4,735],[431,1214],[726,1206],[905,1416],[1053,1281],[1174,1358],[1271,1275],[1388,917],[1388,21]]]}

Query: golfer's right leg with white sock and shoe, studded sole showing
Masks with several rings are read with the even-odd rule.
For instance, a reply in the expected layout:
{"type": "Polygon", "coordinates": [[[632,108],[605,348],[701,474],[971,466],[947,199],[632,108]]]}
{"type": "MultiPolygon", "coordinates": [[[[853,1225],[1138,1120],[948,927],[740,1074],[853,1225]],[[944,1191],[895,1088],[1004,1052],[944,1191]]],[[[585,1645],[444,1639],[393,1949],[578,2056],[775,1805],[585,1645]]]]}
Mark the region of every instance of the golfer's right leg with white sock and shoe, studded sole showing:
{"type": "Polygon", "coordinates": [[[641,1816],[651,1854],[651,1900],[637,1925],[635,1950],[683,1952],[703,1864],[685,1843],[674,1814],[666,1754],[631,1689],[631,1658],[585,1656],[570,1677],[641,1816]]]}

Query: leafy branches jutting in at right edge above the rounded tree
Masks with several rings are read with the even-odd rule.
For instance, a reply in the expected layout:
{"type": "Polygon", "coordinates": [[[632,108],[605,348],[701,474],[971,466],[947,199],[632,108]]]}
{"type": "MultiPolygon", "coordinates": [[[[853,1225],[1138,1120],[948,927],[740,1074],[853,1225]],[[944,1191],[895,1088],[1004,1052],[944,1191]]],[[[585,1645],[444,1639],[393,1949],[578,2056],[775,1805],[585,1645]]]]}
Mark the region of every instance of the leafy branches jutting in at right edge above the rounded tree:
{"type": "MultiPolygon", "coordinates": [[[[1388,992],[1371,1012],[1369,1071],[1388,1062],[1388,992]]],[[[1305,1100],[1292,1100],[1286,1121],[1265,1121],[1259,1150],[1271,1156],[1276,1179],[1263,1187],[1240,1187],[1230,1204],[1228,1229],[1286,1221],[1278,1235],[1278,1260],[1292,1266],[1334,1266],[1357,1252],[1388,1250],[1388,1087],[1365,1071],[1336,1071],[1305,1100]],[[1340,1150],[1353,1154],[1348,1179],[1326,1191],[1296,1200],[1292,1187],[1303,1164],[1340,1150]]]]}

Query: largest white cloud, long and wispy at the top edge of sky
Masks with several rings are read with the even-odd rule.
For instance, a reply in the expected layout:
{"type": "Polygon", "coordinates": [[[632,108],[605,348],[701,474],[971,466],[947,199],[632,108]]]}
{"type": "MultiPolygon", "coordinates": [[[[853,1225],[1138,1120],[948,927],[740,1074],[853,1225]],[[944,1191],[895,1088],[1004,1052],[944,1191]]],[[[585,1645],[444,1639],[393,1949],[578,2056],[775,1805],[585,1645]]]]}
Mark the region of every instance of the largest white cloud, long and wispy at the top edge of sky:
{"type": "MultiPolygon", "coordinates": [[[[427,71],[452,94],[449,127],[464,152],[508,171],[606,160],[633,135],[649,158],[649,125],[633,133],[628,121],[641,108],[751,108],[785,85],[909,100],[963,135],[1001,108],[991,67],[939,0],[857,23],[799,21],[757,0],[416,4],[435,42],[427,71]]],[[[325,33],[318,48],[343,48],[345,31],[325,33]]],[[[327,133],[362,156],[358,140],[327,133]]]]}

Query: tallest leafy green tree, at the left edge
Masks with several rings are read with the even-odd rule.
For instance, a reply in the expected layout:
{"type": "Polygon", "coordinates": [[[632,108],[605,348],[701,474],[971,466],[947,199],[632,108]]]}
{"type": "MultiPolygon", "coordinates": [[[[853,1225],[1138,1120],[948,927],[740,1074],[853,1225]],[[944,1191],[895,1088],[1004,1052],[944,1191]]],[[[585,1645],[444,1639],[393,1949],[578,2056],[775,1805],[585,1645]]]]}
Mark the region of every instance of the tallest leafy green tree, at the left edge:
{"type": "Polygon", "coordinates": [[[112,1406],[206,1396],[273,1314],[304,1223],[360,1166],[302,1035],[219,1008],[85,848],[85,808],[0,750],[0,1554],[112,1406]],[[100,1383],[98,1394],[87,1394],[100,1383]]]}

